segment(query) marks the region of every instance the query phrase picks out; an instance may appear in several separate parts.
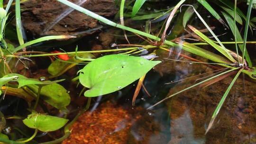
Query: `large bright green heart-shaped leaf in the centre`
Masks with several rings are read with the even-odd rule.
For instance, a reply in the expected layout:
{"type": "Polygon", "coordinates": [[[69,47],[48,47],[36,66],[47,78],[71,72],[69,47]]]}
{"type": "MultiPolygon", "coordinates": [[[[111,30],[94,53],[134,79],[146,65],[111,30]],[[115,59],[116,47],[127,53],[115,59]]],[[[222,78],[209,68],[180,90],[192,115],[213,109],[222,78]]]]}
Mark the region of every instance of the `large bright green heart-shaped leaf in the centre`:
{"type": "Polygon", "coordinates": [[[79,74],[79,81],[90,89],[84,96],[97,97],[128,86],[158,63],[161,62],[124,54],[106,55],[87,64],[79,74]]]}

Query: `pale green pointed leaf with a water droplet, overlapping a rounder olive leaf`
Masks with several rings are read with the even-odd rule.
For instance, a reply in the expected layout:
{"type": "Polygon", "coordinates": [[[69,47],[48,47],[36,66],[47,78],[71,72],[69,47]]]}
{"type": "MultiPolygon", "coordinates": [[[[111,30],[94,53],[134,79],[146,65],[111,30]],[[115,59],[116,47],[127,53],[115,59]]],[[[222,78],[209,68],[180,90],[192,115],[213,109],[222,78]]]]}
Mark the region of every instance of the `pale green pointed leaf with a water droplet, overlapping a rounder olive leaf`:
{"type": "Polygon", "coordinates": [[[56,80],[56,81],[39,81],[37,79],[27,78],[27,77],[17,74],[17,73],[9,73],[8,75],[16,77],[15,81],[18,82],[18,88],[23,87],[25,85],[29,85],[29,84],[48,85],[48,84],[53,84],[56,82],[64,81],[64,79],[56,80]]]}

